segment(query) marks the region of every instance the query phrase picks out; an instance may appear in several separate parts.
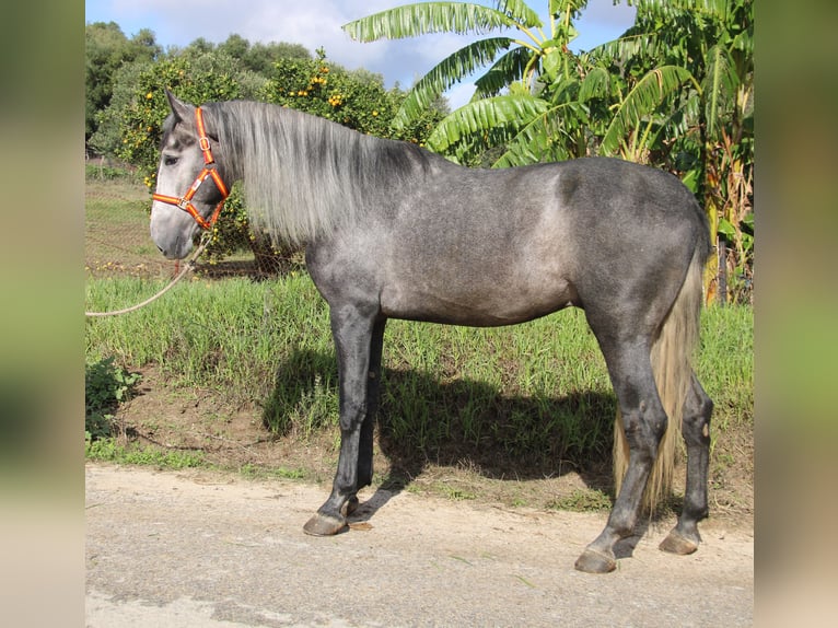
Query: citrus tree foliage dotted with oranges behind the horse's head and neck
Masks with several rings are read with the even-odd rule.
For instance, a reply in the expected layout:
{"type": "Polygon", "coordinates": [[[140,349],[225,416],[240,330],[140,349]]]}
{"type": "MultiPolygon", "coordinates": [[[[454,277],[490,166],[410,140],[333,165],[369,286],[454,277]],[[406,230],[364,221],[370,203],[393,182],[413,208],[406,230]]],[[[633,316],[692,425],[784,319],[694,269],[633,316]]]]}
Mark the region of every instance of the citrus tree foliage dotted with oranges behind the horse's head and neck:
{"type": "MultiPolygon", "coordinates": [[[[237,35],[219,46],[196,39],[154,62],[124,65],[115,73],[112,103],[100,112],[98,130],[91,138],[97,150],[135,165],[150,189],[154,187],[162,123],[170,113],[166,89],[193,104],[234,98],[275,103],[360,132],[420,144],[442,117],[441,107],[431,108],[392,132],[389,120],[405,93],[397,88],[385,90],[380,75],[348,72],[330,63],[323,50],[313,59],[307,50],[290,44],[251,45],[237,35]]],[[[265,271],[276,270],[294,254],[249,231],[241,189],[234,186],[205,255],[214,264],[248,248],[265,271]]]]}

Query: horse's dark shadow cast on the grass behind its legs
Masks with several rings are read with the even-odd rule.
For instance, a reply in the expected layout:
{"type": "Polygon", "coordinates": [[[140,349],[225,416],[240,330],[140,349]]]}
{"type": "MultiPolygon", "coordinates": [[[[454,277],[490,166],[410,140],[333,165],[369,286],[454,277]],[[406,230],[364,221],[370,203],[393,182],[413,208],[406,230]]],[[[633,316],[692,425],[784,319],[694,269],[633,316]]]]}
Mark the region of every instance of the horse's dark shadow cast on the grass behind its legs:
{"type": "MultiPolygon", "coordinates": [[[[279,434],[337,430],[334,352],[298,350],[277,372],[263,421],[279,434]]],[[[613,394],[559,397],[505,394],[472,380],[385,369],[376,439],[389,465],[381,490],[398,492],[428,464],[474,469],[492,479],[543,479],[578,473],[612,490],[613,394]]]]}

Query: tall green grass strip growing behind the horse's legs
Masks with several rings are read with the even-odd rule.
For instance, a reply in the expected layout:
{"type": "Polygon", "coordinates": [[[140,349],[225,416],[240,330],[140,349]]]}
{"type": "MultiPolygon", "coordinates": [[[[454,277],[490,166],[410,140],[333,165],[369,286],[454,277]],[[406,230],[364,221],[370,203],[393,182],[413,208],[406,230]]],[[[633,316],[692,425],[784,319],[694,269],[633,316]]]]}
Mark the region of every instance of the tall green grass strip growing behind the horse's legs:
{"type": "MultiPolygon", "coordinates": [[[[135,303],[160,281],[91,278],[86,307],[135,303]]],[[[86,322],[89,362],[155,364],[176,387],[255,404],[278,434],[307,438],[337,425],[328,311],[304,272],[276,281],[184,282],[126,316],[86,322]]],[[[715,433],[753,425],[753,311],[702,314],[697,371],[715,400],[715,433]]],[[[605,364],[582,312],[505,328],[388,323],[380,412],[391,456],[484,467],[498,456],[533,468],[607,460],[616,410],[605,364]]],[[[583,500],[584,501],[584,500],[583,500]]]]}

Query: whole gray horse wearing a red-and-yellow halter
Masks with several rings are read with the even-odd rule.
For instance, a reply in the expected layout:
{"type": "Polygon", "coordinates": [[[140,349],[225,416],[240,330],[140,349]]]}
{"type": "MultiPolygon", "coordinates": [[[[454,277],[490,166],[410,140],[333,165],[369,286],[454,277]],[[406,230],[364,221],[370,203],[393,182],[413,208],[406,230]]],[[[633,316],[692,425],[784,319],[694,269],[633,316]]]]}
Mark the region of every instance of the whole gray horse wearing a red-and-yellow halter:
{"type": "Polygon", "coordinates": [[[151,212],[160,251],[185,257],[243,179],[253,228],[306,243],[309,271],[329,304],[340,456],[331,495],[305,532],[345,530],[359,488],[372,481],[388,318],[511,325],[574,305],[605,357],[624,458],[615,461],[607,525],[577,569],[615,569],[614,546],[633,533],[644,495],[667,488],[667,426],[686,441],[687,480],[661,548],[697,549],[712,402],[690,357],[711,247],[707,219],[676,177],[615,159],[470,170],[293,109],[168,100],[151,212]]]}

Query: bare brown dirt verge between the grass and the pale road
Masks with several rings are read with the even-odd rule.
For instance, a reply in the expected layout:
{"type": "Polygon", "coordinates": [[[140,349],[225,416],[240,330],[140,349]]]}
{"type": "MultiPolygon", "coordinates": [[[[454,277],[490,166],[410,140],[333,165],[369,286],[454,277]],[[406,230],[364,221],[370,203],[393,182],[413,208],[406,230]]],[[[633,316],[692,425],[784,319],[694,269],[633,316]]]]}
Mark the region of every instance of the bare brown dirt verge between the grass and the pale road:
{"type": "MultiPolygon", "coordinates": [[[[328,492],[337,466],[339,434],[277,438],[265,428],[257,407],[234,407],[217,391],[175,388],[153,368],[141,371],[138,395],[124,404],[117,422],[129,446],[155,447],[168,453],[199,452],[209,465],[244,472],[248,477],[298,478],[321,485],[328,492]]],[[[509,460],[502,452],[462,451],[445,460],[429,460],[417,452],[404,455],[376,439],[374,486],[404,489],[459,501],[527,505],[582,511],[610,509],[610,461],[584,468],[558,461],[548,468],[509,460]]],[[[715,444],[714,457],[736,464],[712,464],[711,516],[729,526],[754,526],[753,432],[729,431],[715,444]]],[[[683,487],[684,465],[675,486],[683,487]]],[[[324,497],[325,499],[325,497],[324,497]]],[[[679,507],[675,498],[671,508],[679,507]]],[[[664,509],[664,515],[672,514],[664,509]]]]}

